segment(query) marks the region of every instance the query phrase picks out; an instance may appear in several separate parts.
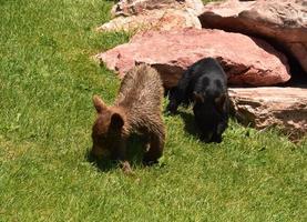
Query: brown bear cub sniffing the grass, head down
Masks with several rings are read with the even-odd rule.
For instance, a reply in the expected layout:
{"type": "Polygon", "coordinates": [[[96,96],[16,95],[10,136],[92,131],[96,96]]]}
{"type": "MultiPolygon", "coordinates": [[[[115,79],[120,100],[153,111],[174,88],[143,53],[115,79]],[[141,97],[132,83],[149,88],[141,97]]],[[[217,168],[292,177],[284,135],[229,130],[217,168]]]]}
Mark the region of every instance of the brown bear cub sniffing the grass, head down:
{"type": "Polygon", "coordinates": [[[131,69],[122,80],[117,98],[108,107],[98,95],[93,103],[98,112],[92,129],[94,157],[120,160],[123,170],[130,171],[126,143],[133,132],[146,137],[145,164],[157,162],[162,157],[165,129],[162,121],[163,87],[155,69],[140,64],[131,69]]]}

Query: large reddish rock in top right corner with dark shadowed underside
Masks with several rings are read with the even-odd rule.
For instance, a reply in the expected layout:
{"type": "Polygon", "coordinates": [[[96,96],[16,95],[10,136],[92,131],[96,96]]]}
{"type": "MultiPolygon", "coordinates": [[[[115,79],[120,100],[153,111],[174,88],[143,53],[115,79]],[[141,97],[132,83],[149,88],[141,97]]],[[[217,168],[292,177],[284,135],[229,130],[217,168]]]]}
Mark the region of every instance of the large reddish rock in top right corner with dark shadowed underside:
{"type": "Polygon", "coordinates": [[[307,1],[257,0],[209,3],[204,28],[266,38],[294,56],[307,72],[307,1]]]}

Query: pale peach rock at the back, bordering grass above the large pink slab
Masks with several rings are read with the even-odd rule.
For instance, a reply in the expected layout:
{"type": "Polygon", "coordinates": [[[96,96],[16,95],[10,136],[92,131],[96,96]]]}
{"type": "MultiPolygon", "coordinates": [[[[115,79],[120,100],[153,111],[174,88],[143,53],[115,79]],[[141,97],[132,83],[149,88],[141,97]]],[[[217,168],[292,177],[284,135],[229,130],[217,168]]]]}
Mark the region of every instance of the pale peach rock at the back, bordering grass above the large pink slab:
{"type": "Polygon", "coordinates": [[[171,30],[188,27],[201,29],[197,16],[203,9],[201,0],[122,0],[111,11],[115,18],[98,30],[171,30]]]}

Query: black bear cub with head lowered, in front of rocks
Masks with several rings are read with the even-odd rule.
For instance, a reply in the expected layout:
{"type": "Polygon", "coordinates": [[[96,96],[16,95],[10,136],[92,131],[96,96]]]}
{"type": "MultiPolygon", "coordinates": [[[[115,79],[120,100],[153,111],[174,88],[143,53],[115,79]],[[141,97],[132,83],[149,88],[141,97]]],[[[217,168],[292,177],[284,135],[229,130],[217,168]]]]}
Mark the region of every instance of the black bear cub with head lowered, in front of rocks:
{"type": "Polygon", "coordinates": [[[194,103],[193,112],[201,139],[205,142],[222,142],[229,115],[227,77],[213,58],[192,64],[178,84],[170,90],[167,111],[175,113],[180,104],[194,103]]]}

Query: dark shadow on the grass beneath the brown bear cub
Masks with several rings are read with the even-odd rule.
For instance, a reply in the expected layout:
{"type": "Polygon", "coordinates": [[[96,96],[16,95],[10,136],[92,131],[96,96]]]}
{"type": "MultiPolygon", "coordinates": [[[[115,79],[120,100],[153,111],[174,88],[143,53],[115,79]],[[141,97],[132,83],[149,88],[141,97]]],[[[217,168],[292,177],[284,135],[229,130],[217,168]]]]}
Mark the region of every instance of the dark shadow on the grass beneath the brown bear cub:
{"type": "MultiPolygon", "coordinates": [[[[132,168],[144,167],[142,160],[144,154],[145,139],[143,137],[133,134],[127,142],[127,161],[132,168]]],[[[85,159],[94,164],[101,172],[108,172],[121,168],[117,160],[98,159],[90,153],[90,149],[85,153],[85,159]]]]}

